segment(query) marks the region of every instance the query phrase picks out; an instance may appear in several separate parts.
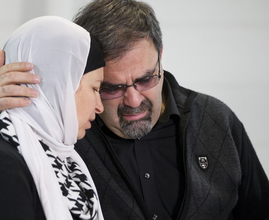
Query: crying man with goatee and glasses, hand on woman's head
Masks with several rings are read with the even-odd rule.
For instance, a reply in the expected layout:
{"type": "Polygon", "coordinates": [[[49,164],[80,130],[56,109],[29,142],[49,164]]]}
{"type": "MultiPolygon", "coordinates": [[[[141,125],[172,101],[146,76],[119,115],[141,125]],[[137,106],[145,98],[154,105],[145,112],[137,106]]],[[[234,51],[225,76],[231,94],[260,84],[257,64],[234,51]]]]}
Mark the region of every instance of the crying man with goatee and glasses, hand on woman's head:
{"type": "MultiPolygon", "coordinates": [[[[269,182],[243,125],[222,102],[180,87],[162,69],[153,9],[134,0],[99,0],[74,22],[97,39],[106,60],[104,112],[75,146],[104,218],[269,218],[269,182]]],[[[8,96],[37,95],[14,85],[38,83],[17,72],[31,68],[0,69],[1,110],[29,104],[8,96]]]]}

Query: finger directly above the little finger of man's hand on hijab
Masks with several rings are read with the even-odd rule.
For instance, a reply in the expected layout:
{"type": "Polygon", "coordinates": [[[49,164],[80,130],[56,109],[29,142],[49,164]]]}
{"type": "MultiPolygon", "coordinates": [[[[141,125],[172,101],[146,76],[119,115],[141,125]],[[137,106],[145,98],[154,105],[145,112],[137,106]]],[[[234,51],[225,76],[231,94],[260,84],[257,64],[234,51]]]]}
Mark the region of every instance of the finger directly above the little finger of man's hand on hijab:
{"type": "Polygon", "coordinates": [[[6,85],[0,89],[0,98],[8,96],[36,97],[37,95],[37,90],[19,85],[6,85]]]}

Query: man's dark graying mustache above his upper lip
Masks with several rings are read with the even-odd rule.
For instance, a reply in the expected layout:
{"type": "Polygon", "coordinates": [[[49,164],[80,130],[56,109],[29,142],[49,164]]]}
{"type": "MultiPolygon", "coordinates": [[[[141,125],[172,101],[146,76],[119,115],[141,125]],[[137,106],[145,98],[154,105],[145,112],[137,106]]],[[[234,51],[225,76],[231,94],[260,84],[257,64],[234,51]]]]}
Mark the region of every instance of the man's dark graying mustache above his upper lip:
{"type": "Polygon", "coordinates": [[[151,111],[151,109],[152,109],[152,103],[149,101],[149,99],[144,99],[137,108],[132,108],[126,105],[119,105],[117,114],[118,116],[123,116],[124,114],[139,114],[146,110],[151,111]]]}

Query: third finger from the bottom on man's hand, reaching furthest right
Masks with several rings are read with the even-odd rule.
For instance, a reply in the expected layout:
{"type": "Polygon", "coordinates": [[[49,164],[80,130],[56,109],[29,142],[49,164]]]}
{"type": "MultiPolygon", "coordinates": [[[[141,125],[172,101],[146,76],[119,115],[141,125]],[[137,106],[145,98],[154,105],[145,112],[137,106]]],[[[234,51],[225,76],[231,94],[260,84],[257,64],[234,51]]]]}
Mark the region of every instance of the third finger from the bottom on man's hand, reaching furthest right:
{"type": "Polygon", "coordinates": [[[0,86],[10,84],[36,84],[40,82],[40,76],[32,73],[10,72],[0,76],[0,86]]]}

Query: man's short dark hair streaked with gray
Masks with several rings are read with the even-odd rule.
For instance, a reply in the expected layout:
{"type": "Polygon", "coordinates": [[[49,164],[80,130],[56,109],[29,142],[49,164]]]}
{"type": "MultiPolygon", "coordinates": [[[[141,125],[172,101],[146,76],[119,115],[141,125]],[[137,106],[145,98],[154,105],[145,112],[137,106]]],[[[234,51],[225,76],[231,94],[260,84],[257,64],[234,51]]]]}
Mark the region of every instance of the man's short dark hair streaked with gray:
{"type": "Polygon", "coordinates": [[[106,61],[124,56],[141,39],[162,48],[160,24],[151,6],[135,0],[96,0],[81,8],[73,22],[99,43],[106,61]]]}

